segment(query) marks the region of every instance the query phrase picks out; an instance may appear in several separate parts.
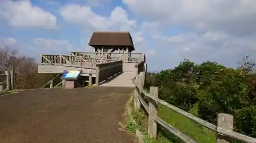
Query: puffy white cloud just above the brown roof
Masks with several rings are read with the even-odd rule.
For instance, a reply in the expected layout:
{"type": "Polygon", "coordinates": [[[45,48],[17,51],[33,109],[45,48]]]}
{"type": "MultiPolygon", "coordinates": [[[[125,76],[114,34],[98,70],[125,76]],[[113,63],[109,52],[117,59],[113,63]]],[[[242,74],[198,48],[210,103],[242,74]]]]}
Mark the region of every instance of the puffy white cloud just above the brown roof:
{"type": "Polygon", "coordinates": [[[121,7],[116,7],[110,17],[96,14],[89,6],[66,5],[60,8],[60,15],[68,22],[89,26],[94,30],[129,31],[136,26],[135,20],[128,19],[127,13],[121,7]]]}

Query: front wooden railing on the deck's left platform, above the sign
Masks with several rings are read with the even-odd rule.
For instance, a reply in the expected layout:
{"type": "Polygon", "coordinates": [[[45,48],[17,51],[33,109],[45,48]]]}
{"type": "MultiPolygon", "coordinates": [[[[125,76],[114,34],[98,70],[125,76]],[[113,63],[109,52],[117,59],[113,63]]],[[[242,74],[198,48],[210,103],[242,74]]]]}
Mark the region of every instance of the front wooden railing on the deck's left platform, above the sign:
{"type": "Polygon", "coordinates": [[[75,55],[41,54],[41,65],[51,64],[51,65],[60,65],[60,66],[95,68],[96,64],[110,63],[115,61],[117,60],[88,58],[84,56],[75,56],[75,55]]]}

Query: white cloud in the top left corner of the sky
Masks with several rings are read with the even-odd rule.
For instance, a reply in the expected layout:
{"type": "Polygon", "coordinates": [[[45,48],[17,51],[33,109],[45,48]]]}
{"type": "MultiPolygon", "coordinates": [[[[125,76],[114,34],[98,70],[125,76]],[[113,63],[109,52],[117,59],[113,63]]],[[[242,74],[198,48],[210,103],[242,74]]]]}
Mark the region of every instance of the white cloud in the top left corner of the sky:
{"type": "Polygon", "coordinates": [[[0,2],[0,17],[11,26],[56,28],[57,19],[51,13],[32,5],[29,1],[0,2]]]}

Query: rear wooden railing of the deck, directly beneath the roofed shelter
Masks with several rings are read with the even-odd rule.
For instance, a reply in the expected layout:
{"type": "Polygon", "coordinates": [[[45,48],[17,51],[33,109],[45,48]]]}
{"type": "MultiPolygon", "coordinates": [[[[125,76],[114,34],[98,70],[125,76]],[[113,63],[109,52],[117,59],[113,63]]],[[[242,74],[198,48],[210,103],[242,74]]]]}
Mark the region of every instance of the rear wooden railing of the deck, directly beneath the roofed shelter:
{"type": "Polygon", "coordinates": [[[114,53],[114,52],[71,52],[71,55],[87,58],[100,58],[106,60],[117,60],[125,63],[145,62],[144,53],[114,53]]]}

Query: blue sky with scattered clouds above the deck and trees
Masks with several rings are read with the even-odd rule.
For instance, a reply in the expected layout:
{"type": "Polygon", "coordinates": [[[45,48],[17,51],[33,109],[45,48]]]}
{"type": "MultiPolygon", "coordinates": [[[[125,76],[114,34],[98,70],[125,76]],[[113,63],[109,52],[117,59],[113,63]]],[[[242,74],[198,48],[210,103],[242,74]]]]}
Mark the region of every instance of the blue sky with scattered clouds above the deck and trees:
{"type": "Polygon", "coordinates": [[[94,31],[129,31],[148,70],[182,60],[236,67],[256,60],[254,0],[31,0],[0,1],[0,46],[40,53],[92,51],[94,31]]]}

